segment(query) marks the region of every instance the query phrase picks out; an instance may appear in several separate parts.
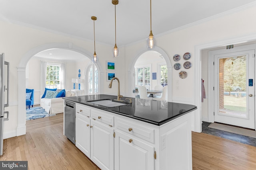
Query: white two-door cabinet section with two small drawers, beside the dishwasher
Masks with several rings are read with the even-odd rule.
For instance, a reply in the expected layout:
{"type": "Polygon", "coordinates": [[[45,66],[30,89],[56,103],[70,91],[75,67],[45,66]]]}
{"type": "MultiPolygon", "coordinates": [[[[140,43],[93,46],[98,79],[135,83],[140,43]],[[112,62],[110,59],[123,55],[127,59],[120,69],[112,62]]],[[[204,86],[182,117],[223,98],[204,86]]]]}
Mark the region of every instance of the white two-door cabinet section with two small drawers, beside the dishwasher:
{"type": "Polygon", "coordinates": [[[102,170],[114,170],[114,116],[76,103],[76,147],[102,170]]]}

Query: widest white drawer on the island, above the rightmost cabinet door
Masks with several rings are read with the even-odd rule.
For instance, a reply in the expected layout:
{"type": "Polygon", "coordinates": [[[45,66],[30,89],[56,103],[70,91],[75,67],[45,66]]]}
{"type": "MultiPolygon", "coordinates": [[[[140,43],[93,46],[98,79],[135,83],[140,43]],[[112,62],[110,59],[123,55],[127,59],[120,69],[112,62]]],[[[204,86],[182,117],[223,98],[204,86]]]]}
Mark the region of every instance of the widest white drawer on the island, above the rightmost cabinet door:
{"type": "Polygon", "coordinates": [[[126,121],[124,119],[115,119],[116,128],[120,129],[130,135],[134,135],[136,137],[140,137],[146,141],[154,143],[154,129],[150,127],[145,127],[139,125],[138,123],[134,123],[132,121],[126,121]]]}

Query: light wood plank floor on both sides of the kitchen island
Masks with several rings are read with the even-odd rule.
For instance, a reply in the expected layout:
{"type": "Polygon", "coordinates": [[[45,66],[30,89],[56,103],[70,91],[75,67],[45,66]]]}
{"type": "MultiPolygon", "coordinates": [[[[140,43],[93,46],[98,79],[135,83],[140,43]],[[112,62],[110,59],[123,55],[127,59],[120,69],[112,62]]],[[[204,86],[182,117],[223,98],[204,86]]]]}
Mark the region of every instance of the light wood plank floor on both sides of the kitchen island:
{"type": "MultiPolygon", "coordinates": [[[[63,113],[26,122],[27,133],[4,140],[0,160],[28,160],[30,170],[99,170],[63,134],[63,113]]],[[[256,147],[192,132],[193,170],[255,170],[256,147]]]]}

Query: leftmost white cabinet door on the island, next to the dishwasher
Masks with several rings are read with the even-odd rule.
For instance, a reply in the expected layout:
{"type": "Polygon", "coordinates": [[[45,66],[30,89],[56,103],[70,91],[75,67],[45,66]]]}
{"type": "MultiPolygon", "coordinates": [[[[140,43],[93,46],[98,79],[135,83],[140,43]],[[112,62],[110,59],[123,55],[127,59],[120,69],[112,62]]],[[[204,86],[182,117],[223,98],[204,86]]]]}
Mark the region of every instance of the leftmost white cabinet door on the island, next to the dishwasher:
{"type": "Polygon", "coordinates": [[[90,158],[90,119],[76,114],[76,147],[90,158]]]}

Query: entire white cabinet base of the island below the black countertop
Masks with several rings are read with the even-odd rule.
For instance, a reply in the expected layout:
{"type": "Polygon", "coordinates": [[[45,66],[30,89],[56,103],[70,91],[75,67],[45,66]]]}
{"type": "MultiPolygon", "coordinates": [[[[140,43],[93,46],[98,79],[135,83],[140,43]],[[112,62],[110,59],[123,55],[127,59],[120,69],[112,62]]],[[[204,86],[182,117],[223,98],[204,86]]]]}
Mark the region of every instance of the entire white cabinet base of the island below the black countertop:
{"type": "Polygon", "coordinates": [[[76,104],[76,146],[102,170],[192,170],[191,113],[158,126],[76,104]]]}

